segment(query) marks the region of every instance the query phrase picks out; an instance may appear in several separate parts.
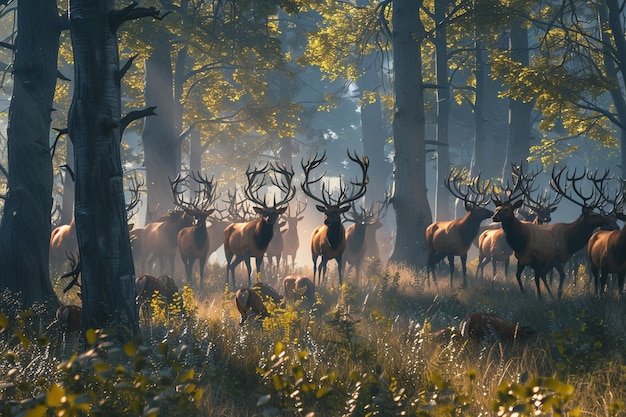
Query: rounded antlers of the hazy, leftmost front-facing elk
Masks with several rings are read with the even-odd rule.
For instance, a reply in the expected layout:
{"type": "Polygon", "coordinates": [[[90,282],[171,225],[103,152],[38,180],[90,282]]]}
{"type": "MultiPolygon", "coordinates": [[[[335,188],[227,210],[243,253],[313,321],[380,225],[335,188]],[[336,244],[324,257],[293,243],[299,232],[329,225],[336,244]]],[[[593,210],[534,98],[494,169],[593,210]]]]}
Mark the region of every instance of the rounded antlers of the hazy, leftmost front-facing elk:
{"type": "Polygon", "coordinates": [[[190,190],[189,175],[182,177],[181,174],[178,174],[173,181],[170,179],[174,205],[194,217],[211,214],[213,212],[211,206],[218,198],[213,177],[209,180],[208,176],[203,177],[199,172],[192,172],[191,178],[198,184],[198,189],[192,192],[191,201],[186,201],[184,198],[185,191],[190,190]],[[178,188],[179,185],[183,186],[181,190],[178,188]]]}

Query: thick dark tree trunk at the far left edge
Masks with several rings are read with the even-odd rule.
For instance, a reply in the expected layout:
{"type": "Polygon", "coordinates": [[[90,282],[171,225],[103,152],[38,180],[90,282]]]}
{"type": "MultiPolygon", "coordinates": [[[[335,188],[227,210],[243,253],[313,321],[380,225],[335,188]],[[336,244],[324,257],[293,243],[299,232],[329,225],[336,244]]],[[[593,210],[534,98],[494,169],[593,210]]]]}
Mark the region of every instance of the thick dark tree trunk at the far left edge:
{"type": "Polygon", "coordinates": [[[52,161],[50,113],[62,20],[55,0],[18,3],[14,88],[9,109],[7,199],[0,224],[0,288],[24,307],[58,303],[48,276],[52,161]]]}

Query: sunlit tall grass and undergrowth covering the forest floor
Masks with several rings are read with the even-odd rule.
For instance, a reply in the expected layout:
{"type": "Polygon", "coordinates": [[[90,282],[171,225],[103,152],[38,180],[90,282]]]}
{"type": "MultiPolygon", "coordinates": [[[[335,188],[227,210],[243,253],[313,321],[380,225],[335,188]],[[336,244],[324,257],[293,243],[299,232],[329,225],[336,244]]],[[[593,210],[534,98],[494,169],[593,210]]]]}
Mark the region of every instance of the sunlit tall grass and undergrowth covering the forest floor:
{"type": "MultiPolygon", "coordinates": [[[[591,295],[584,276],[567,282],[562,299],[538,300],[526,279],[522,294],[513,277],[470,277],[460,288],[458,272],[451,287],[445,273],[434,283],[380,262],[364,270],[359,285],[349,275],[338,288],[330,273],[314,303],[269,305],[269,317],[240,327],[224,268],[211,265],[205,291],[185,291],[186,313],[156,311],[136,349],[111,354],[103,334],[91,335],[81,348],[92,356],[82,362],[80,384],[60,365],[78,349],[78,336],[46,330],[43,311],[20,317],[9,297],[0,308],[0,409],[7,416],[37,404],[55,415],[624,414],[626,306],[615,294],[591,295]],[[527,344],[431,340],[432,330],[458,328],[473,312],[518,321],[539,337],[527,344]],[[103,363],[127,372],[103,373],[103,363]],[[125,384],[131,388],[117,390],[125,384]],[[58,388],[105,393],[85,398],[90,407],[82,409],[47,403],[58,388]]],[[[277,278],[268,281],[277,285],[277,278]]]]}

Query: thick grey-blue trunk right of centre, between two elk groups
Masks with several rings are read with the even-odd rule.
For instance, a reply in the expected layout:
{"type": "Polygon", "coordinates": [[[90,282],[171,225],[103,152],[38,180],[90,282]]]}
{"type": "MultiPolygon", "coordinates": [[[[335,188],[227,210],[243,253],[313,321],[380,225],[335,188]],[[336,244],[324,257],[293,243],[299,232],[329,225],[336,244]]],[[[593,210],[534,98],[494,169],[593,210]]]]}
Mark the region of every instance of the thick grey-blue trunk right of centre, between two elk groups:
{"type": "Polygon", "coordinates": [[[426,265],[426,227],[432,216],[426,196],[424,88],[421,41],[425,37],[420,20],[421,1],[393,3],[393,69],[395,115],[396,242],[391,260],[420,268],[426,265]]]}

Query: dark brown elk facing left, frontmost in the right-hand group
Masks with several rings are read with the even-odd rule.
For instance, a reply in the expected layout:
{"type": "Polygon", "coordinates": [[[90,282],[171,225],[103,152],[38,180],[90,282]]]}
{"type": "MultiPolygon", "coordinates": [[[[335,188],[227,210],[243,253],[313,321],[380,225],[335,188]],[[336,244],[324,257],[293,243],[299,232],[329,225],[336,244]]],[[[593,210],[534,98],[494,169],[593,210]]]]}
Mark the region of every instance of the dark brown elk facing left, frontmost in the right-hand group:
{"type": "Polygon", "coordinates": [[[553,233],[543,226],[519,220],[515,216],[515,211],[519,209],[523,200],[520,199],[527,189],[524,182],[527,177],[523,175],[521,169],[514,175],[514,186],[507,185],[504,194],[506,200],[501,200],[495,193],[492,200],[496,205],[493,220],[502,223],[502,229],[506,236],[506,241],[513,249],[513,254],[517,258],[517,271],[515,277],[519,284],[520,291],[524,292],[522,285],[522,271],[525,266],[530,266],[535,271],[535,285],[537,287],[537,297],[541,297],[539,279],[542,279],[550,295],[550,287],[546,282],[547,270],[551,267],[551,262],[556,253],[556,242],[553,233]]]}

